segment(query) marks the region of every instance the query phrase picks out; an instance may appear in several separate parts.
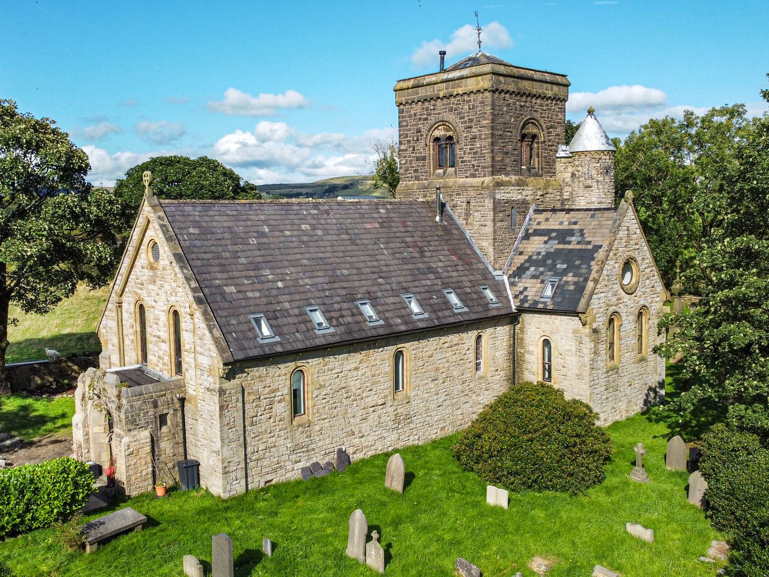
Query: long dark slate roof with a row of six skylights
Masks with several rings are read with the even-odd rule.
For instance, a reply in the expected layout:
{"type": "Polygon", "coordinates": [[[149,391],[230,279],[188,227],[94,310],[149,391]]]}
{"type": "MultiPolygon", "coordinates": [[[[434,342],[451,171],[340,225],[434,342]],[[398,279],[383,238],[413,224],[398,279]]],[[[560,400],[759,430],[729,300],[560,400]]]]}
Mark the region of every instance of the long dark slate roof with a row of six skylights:
{"type": "Polygon", "coordinates": [[[431,202],[161,201],[195,281],[237,361],[511,315],[461,226],[431,202]],[[501,305],[481,292],[488,285],[501,305]],[[454,312],[442,292],[467,307],[454,312]],[[414,319],[402,294],[427,317],[414,319]],[[358,308],[368,299],[381,325],[358,308]],[[318,305],[334,332],[318,334],[305,307],[318,305]],[[280,338],[259,342],[249,315],[280,338]]]}

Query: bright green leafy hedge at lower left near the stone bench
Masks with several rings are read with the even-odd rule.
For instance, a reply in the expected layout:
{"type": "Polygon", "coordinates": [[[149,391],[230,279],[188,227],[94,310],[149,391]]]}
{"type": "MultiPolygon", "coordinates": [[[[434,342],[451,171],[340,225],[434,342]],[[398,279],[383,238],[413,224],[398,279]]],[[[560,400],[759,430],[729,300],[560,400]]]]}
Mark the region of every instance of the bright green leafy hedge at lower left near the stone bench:
{"type": "Polygon", "coordinates": [[[0,538],[68,519],[93,484],[88,465],[69,457],[0,471],[0,538]]]}

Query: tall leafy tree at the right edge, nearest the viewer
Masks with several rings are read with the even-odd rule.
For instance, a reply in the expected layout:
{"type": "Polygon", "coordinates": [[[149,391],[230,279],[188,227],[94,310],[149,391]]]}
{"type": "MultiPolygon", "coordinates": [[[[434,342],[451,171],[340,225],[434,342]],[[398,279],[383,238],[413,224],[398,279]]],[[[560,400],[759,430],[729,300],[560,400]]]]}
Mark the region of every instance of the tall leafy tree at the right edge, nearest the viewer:
{"type": "Polygon", "coordinates": [[[769,442],[769,116],[755,118],[729,148],[718,182],[698,184],[714,190],[721,211],[684,275],[701,299],[663,320],[678,332],[658,350],[683,352],[684,376],[696,376],[673,409],[725,407],[727,422],[769,442]]]}

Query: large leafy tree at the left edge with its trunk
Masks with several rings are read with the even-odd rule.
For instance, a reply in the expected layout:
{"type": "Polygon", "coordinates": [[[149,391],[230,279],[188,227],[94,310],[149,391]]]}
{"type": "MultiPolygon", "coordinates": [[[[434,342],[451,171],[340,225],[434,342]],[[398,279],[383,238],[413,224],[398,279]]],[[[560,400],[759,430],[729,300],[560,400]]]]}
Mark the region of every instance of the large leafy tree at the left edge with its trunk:
{"type": "Polygon", "coordinates": [[[108,282],[120,255],[122,205],[85,181],[88,155],[50,118],[0,100],[0,384],[8,306],[44,314],[78,282],[108,282]]]}

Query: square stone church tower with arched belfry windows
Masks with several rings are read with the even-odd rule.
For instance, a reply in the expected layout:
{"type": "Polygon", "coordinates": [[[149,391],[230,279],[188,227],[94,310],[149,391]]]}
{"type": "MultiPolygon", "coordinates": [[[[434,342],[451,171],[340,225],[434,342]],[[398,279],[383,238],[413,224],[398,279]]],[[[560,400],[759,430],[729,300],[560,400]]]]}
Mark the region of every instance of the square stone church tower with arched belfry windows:
{"type": "Polygon", "coordinates": [[[555,155],[569,84],[483,52],[398,81],[398,198],[433,198],[440,187],[491,265],[503,268],[531,205],[568,203],[555,155]]]}

